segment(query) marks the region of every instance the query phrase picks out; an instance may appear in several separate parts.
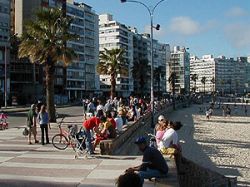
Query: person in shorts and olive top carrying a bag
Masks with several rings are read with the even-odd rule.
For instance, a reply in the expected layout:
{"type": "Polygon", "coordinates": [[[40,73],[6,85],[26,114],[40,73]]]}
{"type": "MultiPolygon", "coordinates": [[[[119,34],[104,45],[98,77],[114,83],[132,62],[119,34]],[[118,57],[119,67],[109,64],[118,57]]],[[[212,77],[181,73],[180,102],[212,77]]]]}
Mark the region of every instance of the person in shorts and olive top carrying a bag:
{"type": "Polygon", "coordinates": [[[34,136],[35,143],[39,143],[39,141],[36,138],[37,130],[36,130],[36,105],[32,104],[30,107],[30,110],[27,114],[27,127],[28,127],[28,144],[32,144],[31,142],[31,135],[34,136]]]}

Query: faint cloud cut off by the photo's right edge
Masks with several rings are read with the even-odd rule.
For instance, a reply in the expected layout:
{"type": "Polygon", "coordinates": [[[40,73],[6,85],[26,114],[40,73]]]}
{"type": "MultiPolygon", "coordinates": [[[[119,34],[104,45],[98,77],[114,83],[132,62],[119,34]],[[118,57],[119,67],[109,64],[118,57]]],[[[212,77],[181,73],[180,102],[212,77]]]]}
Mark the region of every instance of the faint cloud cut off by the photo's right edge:
{"type": "Polygon", "coordinates": [[[224,28],[225,35],[232,46],[236,48],[245,48],[250,46],[250,25],[231,24],[224,28]]]}

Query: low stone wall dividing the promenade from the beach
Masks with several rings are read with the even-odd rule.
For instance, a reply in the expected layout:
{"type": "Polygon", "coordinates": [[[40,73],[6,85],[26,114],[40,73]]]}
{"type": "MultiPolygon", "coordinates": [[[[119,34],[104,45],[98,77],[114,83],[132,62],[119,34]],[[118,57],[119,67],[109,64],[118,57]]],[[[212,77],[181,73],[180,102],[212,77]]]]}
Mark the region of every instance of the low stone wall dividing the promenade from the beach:
{"type": "MultiPolygon", "coordinates": [[[[183,103],[176,104],[176,109],[182,108],[183,103]]],[[[173,107],[164,107],[155,115],[155,117],[163,114],[173,112],[173,107]]],[[[152,132],[151,114],[146,114],[143,118],[135,123],[131,123],[128,129],[114,140],[106,140],[106,143],[102,143],[102,149],[108,148],[104,154],[116,154],[116,155],[139,155],[141,154],[134,145],[134,140],[137,136],[146,135],[148,132],[152,132]]],[[[176,159],[176,165],[178,170],[179,185],[183,187],[234,187],[237,186],[237,178],[225,177],[217,172],[211,171],[207,168],[203,168],[196,163],[185,158],[185,155],[179,159],[176,159]]]]}

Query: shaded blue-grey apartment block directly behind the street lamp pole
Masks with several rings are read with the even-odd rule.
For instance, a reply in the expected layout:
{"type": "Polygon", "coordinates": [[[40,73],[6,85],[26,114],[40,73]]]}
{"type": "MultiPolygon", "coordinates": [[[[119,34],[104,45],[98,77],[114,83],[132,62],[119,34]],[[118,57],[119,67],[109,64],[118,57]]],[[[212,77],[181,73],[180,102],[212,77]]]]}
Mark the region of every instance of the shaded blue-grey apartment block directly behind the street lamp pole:
{"type": "MultiPolygon", "coordinates": [[[[151,86],[151,38],[149,34],[139,34],[136,29],[133,32],[133,56],[134,62],[146,63],[149,67],[148,72],[143,72],[147,78],[143,88],[139,84],[140,80],[134,80],[134,91],[139,94],[150,95],[151,86]],[[143,91],[141,90],[143,89],[143,91]]],[[[154,95],[166,93],[166,65],[170,60],[170,46],[153,40],[153,68],[154,68],[154,95]]]]}

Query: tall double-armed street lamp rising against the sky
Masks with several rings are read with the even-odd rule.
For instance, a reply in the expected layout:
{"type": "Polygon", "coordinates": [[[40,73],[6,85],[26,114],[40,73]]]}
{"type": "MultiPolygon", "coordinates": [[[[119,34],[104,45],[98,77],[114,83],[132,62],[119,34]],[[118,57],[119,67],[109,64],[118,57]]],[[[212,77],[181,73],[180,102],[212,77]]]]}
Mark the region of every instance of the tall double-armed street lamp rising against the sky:
{"type": "Polygon", "coordinates": [[[154,60],[154,57],[153,57],[153,28],[155,28],[156,30],[159,30],[160,29],[160,25],[157,24],[155,27],[153,25],[153,17],[154,17],[154,11],[156,9],[156,7],[162,3],[163,1],[165,0],[160,0],[158,3],[156,3],[156,5],[153,7],[153,8],[150,8],[149,6],[147,6],[146,4],[140,2],[140,1],[134,1],[134,0],[121,0],[121,3],[126,3],[126,2],[129,2],[129,3],[138,3],[138,4],[141,4],[143,5],[148,13],[149,13],[149,16],[150,16],[150,29],[151,29],[151,34],[150,34],[150,37],[151,37],[151,50],[150,50],[150,53],[151,53],[151,84],[150,84],[150,100],[151,100],[151,111],[152,111],[152,118],[151,118],[151,127],[154,127],[154,65],[153,65],[153,60],[154,60]]]}

